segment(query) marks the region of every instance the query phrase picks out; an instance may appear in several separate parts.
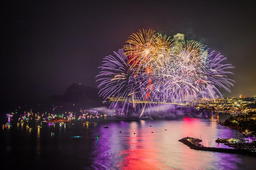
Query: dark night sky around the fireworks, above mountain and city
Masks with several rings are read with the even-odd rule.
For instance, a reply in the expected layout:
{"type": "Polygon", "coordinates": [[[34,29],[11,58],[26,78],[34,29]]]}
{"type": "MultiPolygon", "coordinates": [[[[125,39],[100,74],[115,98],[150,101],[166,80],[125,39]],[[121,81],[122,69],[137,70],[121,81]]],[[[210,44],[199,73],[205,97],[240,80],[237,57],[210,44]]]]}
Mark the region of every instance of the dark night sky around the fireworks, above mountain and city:
{"type": "Polygon", "coordinates": [[[1,5],[1,100],[97,87],[102,59],[139,29],[184,33],[228,58],[232,93],[256,95],[253,1],[9,1],[1,5]]]}

